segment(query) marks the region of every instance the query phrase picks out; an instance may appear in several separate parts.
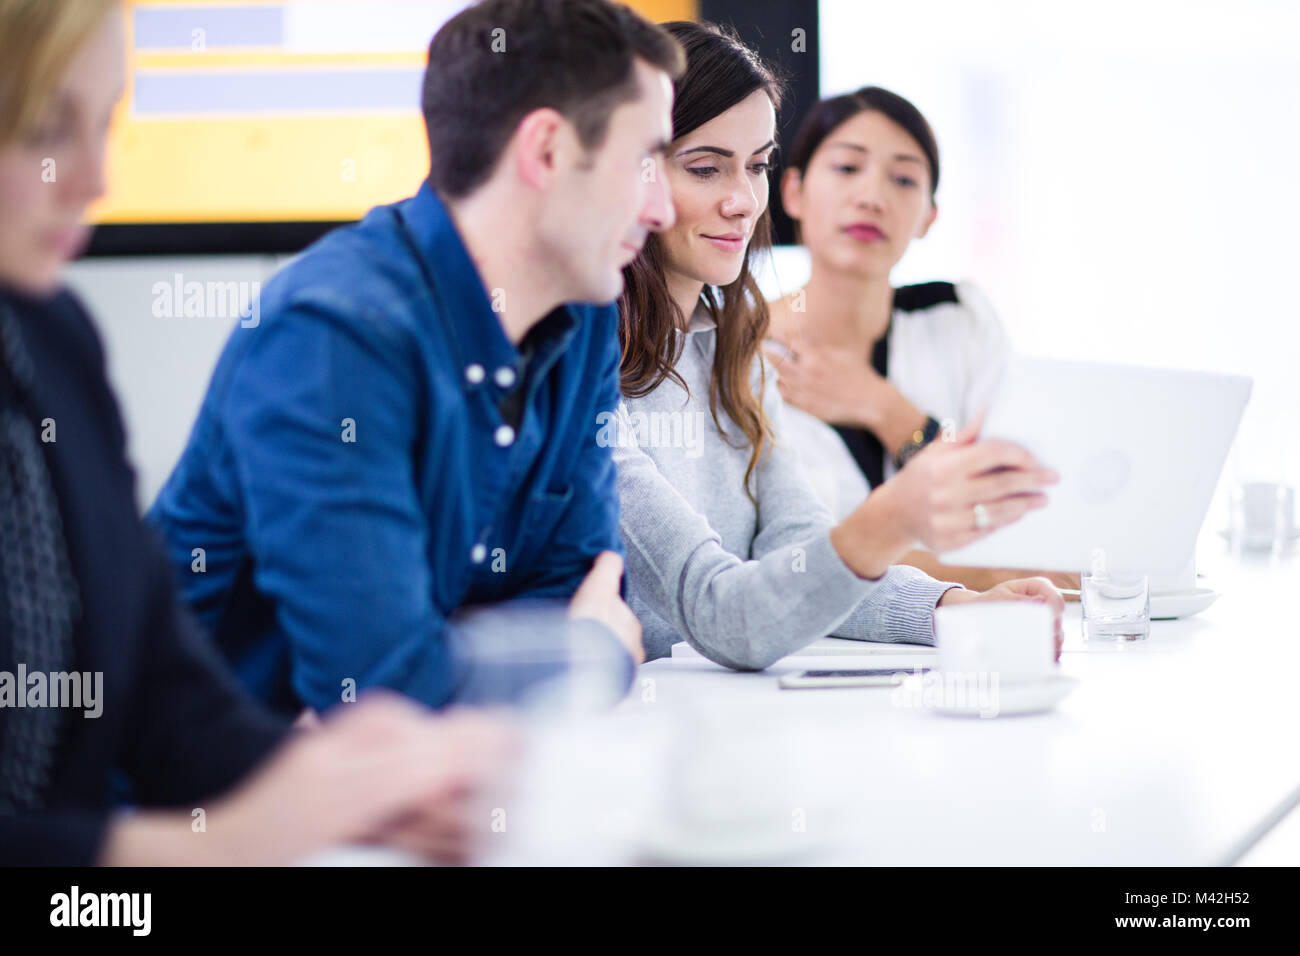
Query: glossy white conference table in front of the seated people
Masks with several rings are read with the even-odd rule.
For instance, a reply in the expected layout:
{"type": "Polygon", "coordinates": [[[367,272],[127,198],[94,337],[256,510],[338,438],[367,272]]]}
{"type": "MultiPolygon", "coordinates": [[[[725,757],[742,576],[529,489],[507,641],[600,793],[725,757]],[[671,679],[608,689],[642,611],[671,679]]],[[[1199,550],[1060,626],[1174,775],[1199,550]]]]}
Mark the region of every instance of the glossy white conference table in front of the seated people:
{"type": "MultiPolygon", "coordinates": [[[[1202,538],[1201,614],[1088,644],[1067,605],[1056,710],[992,719],[893,688],[786,691],[807,669],[932,663],[823,639],[759,674],[644,665],[601,715],[540,722],[482,808],[481,864],[1300,864],[1300,557],[1202,538]],[[855,653],[835,656],[837,646],[855,653]]],[[[309,862],[419,862],[351,848],[309,862]]]]}

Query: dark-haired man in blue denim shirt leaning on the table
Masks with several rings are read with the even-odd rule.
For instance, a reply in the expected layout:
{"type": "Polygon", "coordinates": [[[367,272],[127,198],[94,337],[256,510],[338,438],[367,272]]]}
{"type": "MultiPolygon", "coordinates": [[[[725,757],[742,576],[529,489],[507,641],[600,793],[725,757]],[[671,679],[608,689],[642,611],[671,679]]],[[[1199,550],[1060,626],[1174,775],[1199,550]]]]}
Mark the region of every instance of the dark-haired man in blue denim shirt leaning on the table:
{"type": "Polygon", "coordinates": [[[564,303],[611,303],[672,224],[680,69],[666,33],[606,0],[471,7],[429,48],[429,181],[315,245],[231,334],[150,518],[272,706],[373,685],[515,697],[572,646],[612,652],[627,688],[640,624],[597,441],[618,312],[564,303]],[[568,606],[465,614],[532,598],[568,606]]]}

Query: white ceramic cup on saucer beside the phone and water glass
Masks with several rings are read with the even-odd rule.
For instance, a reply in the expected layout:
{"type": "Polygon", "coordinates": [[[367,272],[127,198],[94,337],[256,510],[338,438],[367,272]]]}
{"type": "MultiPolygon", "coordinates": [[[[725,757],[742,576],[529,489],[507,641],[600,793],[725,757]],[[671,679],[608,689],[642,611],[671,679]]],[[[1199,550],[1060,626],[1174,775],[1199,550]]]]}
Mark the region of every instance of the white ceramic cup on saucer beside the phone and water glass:
{"type": "Polygon", "coordinates": [[[935,609],[939,669],[996,674],[998,683],[1056,674],[1056,623],[1036,601],[980,601],[935,609]]]}

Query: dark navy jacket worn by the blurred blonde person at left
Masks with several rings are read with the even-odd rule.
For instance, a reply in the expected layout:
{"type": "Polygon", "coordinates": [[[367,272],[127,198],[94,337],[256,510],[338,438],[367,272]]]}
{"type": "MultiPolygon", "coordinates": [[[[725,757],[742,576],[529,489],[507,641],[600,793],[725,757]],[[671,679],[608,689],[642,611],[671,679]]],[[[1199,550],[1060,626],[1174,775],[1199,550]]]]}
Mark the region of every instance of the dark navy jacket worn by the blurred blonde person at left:
{"type": "MultiPolygon", "coordinates": [[[[192,809],[231,787],[286,726],[228,676],[173,597],[170,566],[135,510],[121,418],[81,304],[0,287],[5,306],[35,369],[27,411],[56,428],[43,449],[81,596],[72,667],[101,672],[103,692],[98,718],[66,715],[47,809],[0,816],[0,866],[91,864],[114,771],[143,806],[192,809]]],[[[0,659],[0,671],[16,675],[18,663],[0,659]]],[[[0,708],[0,726],[27,713],[0,708]]]]}

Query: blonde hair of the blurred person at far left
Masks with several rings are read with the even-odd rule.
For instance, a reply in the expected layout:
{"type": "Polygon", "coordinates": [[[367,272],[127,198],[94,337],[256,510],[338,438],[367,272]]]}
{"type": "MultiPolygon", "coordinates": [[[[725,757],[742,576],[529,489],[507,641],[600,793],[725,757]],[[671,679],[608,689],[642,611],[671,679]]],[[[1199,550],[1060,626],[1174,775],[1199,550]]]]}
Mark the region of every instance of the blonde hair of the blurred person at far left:
{"type": "Polygon", "coordinates": [[[0,146],[31,131],[73,56],[121,0],[0,0],[0,146]]]}

